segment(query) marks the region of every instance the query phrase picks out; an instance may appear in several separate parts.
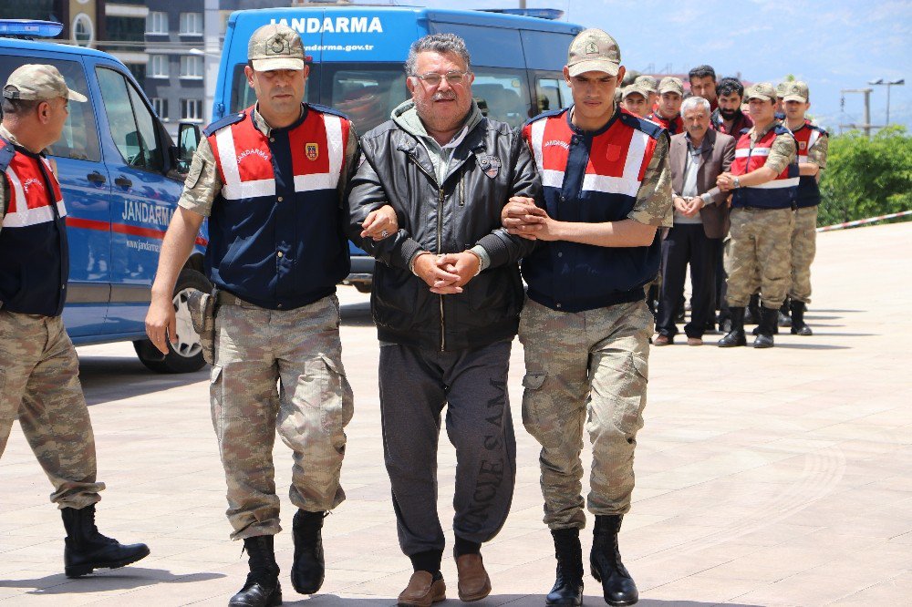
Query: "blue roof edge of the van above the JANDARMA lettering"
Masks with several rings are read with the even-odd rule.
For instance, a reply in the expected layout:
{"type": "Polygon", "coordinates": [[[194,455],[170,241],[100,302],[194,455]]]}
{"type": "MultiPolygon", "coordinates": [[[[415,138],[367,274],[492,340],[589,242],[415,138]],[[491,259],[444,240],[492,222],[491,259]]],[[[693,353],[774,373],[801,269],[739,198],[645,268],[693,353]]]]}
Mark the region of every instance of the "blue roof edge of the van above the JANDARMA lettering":
{"type": "Polygon", "coordinates": [[[300,16],[306,12],[322,12],[326,16],[334,14],[351,14],[352,12],[378,12],[386,15],[415,16],[416,21],[436,21],[438,23],[457,23],[469,26],[493,26],[513,29],[534,29],[542,32],[559,32],[562,34],[577,34],[582,31],[582,26],[525,15],[508,15],[505,13],[490,13],[473,10],[451,10],[426,8],[423,6],[386,6],[386,5],[345,5],[345,6],[294,6],[283,8],[260,8],[235,11],[229,17],[228,23],[232,24],[239,19],[262,17],[267,14],[276,19],[300,16]]]}

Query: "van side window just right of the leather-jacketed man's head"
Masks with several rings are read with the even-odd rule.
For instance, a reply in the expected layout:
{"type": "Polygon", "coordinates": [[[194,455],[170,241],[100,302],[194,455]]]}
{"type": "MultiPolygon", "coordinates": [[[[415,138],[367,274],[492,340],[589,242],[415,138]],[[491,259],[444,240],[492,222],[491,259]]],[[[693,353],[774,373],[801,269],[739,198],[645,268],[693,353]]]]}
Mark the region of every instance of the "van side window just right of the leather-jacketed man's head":
{"type": "MultiPolygon", "coordinates": [[[[522,127],[529,116],[529,87],[524,70],[502,67],[472,67],[475,81],[472,97],[486,116],[506,122],[511,127],[522,127]]],[[[534,115],[534,114],[533,114],[534,115]]]]}

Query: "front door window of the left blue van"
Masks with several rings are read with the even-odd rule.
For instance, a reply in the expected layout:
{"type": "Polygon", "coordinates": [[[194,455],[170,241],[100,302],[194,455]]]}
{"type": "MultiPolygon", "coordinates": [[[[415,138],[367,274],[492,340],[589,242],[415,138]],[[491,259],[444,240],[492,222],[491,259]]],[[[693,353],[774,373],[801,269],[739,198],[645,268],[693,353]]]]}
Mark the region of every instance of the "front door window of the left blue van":
{"type": "Polygon", "coordinates": [[[155,119],[139,92],[118,71],[97,67],[98,86],[114,145],[131,167],[162,170],[164,156],[155,132],[155,119]]]}

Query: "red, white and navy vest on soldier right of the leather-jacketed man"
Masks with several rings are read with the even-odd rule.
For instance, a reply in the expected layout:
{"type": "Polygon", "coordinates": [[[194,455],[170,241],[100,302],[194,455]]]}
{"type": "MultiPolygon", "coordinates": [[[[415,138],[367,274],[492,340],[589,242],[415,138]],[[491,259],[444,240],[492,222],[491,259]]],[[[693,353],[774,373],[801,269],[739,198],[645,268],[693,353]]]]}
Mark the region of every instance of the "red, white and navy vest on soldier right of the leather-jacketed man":
{"type": "MultiPolygon", "coordinates": [[[[576,129],[570,111],[544,112],[523,127],[558,221],[622,221],[633,210],[659,137],[654,122],[619,109],[596,132],[576,129]]],[[[547,242],[523,259],[529,297],[563,312],[641,301],[658,273],[661,237],[646,247],[547,242]]]]}

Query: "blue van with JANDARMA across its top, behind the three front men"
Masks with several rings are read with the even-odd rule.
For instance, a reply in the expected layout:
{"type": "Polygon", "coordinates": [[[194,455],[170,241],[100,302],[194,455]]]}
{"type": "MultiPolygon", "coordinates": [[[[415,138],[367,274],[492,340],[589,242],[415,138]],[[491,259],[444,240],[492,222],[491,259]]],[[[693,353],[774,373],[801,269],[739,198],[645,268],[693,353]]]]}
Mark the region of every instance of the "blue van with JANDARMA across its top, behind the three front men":
{"type": "MultiPolygon", "coordinates": [[[[238,11],[225,31],[213,120],[254,104],[244,78],[247,42],[256,28],[270,23],[298,31],[313,57],[307,101],[345,112],[362,134],[389,119],[408,98],[403,64],[411,43],[441,32],[466,41],[475,73],[472,94],[490,118],[520,127],[545,109],[564,108],[571,103],[562,75],[567,48],[583,29],[534,16],[399,6],[238,11]]],[[[347,283],[367,291],[373,259],[353,244],[350,249],[347,283]]]]}

